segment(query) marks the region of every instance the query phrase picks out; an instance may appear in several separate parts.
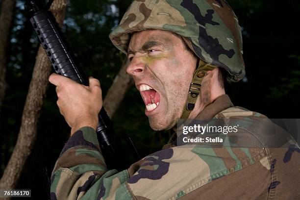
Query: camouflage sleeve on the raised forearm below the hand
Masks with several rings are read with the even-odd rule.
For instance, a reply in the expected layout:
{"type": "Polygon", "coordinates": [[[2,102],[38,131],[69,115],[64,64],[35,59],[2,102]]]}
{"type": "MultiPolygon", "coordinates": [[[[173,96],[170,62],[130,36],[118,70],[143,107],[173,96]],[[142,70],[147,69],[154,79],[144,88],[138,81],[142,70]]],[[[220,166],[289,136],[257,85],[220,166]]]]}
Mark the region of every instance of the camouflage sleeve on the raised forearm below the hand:
{"type": "Polygon", "coordinates": [[[78,129],[65,144],[51,175],[51,200],[131,200],[127,170],[108,171],[96,131],[78,129]]]}

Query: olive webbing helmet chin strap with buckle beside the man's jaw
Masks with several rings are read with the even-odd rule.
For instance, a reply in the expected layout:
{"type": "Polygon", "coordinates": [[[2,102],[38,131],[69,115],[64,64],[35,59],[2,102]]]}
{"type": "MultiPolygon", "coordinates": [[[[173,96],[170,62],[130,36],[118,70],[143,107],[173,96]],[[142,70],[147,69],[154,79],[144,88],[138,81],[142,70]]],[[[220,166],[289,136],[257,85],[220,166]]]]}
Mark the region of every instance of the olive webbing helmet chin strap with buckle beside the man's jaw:
{"type": "Polygon", "coordinates": [[[199,65],[196,71],[193,74],[193,80],[190,85],[189,95],[187,101],[185,103],[183,113],[181,115],[181,119],[188,119],[189,115],[191,114],[192,110],[195,107],[196,100],[201,92],[201,82],[204,76],[207,74],[208,71],[215,69],[217,66],[207,64],[202,60],[199,60],[199,65]]]}

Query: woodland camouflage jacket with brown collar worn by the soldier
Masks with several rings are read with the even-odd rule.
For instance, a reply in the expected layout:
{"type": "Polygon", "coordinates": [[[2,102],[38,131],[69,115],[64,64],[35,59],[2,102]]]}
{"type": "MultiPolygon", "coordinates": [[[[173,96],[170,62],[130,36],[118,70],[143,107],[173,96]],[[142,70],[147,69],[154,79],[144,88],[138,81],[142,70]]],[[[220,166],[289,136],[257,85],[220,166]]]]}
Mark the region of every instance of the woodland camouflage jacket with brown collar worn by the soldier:
{"type": "MultiPolygon", "coordinates": [[[[245,117],[265,118],[233,107],[227,95],[198,116],[206,120],[245,117]]],[[[255,127],[247,131],[253,133],[255,127]]],[[[70,137],[55,164],[51,200],[300,199],[300,149],[296,145],[182,148],[174,145],[174,139],[127,170],[108,171],[95,130],[82,127],[70,137]]]]}

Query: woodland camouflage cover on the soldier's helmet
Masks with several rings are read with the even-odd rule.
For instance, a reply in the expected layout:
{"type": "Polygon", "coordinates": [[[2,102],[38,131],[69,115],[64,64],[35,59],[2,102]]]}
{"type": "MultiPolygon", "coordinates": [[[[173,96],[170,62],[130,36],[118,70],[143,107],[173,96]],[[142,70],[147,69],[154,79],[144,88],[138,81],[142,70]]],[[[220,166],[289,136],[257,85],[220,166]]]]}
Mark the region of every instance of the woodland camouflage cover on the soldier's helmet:
{"type": "Polygon", "coordinates": [[[241,29],[225,0],[134,0],[109,37],[126,53],[131,33],[145,29],[184,37],[200,59],[224,68],[229,81],[245,75],[241,29]]]}

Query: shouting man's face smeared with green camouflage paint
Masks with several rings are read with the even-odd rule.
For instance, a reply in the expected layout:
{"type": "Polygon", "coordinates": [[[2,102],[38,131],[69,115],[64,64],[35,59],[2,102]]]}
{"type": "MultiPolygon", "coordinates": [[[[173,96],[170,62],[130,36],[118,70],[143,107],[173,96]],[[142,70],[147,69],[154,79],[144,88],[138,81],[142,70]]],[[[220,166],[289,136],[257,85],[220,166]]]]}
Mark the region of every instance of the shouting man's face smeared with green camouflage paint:
{"type": "Polygon", "coordinates": [[[131,36],[127,73],[145,102],[153,130],[172,128],[187,100],[197,59],[169,31],[144,30],[131,36]]]}

